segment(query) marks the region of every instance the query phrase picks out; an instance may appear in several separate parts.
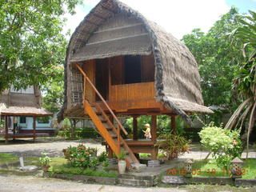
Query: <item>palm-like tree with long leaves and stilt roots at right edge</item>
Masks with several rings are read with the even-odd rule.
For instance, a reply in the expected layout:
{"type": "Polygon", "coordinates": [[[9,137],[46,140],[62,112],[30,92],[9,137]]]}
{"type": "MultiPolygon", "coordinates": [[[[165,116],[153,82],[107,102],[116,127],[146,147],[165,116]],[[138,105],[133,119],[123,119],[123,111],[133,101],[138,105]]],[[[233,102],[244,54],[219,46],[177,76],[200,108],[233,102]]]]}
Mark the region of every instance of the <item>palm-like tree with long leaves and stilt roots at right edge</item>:
{"type": "Polygon", "coordinates": [[[246,131],[242,139],[246,140],[246,157],[248,157],[250,132],[256,120],[256,13],[250,11],[250,15],[240,16],[238,22],[242,26],[234,30],[230,38],[233,43],[237,40],[242,42],[244,61],[240,62],[235,70],[233,86],[238,92],[238,98],[243,102],[238,106],[225,128],[239,127],[241,130],[243,123],[247,120],[246,131]]]}

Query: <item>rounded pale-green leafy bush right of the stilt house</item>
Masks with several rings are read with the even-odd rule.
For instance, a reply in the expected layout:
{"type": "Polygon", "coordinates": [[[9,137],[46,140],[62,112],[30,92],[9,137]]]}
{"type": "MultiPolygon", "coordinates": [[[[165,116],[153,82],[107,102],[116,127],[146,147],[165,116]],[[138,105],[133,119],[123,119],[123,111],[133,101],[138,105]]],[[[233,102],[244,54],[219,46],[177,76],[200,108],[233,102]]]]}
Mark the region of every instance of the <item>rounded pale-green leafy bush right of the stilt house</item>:
{"type": "Polygon", "coordinates": [[[240,158],[242,142],[237,130],[224,130],[222,126],[214,126],[211,122],[199,133],[202,146],[210,150],[216,159],[217,166],[227,169],[233,158],[240,158]]]}

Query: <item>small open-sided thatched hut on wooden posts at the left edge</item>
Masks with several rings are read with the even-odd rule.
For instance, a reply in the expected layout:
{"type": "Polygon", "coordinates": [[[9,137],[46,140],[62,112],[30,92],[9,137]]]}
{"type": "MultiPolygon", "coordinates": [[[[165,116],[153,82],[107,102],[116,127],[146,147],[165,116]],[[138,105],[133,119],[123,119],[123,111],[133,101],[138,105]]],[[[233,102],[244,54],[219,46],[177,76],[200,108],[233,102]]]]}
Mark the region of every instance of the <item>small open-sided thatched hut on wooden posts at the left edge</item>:
{"type": "Polygon", "coordinates": [[[5,128],[0,130],[0,138],[5,138],[7,143],[10,138],[34,138],[35,140],[40,136],[49,136],[44,132],[36,133],[36,118],[49,115],[52,113],[41,106],[41,92],[37,86],[30,86],[26,90],[14,90],[11,87],[0,95],[0,117],[5,118],[5,128]],[[26,119],[26,117],[33,118],[31,133],[22,133],[23,130],[17,126],[17,118],[21,121],[21,118],[26,119]]]}

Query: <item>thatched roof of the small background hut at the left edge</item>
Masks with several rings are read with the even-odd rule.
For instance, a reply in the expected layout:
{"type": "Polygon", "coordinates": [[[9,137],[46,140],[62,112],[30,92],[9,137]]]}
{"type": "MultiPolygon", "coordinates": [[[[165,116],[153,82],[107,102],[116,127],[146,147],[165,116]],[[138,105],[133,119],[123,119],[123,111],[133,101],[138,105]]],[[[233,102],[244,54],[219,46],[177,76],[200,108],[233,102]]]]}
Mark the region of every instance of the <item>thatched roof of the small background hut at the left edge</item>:
{"type": "Polygon", "coordinates": [[[0,95],[0,114],[8,116],[47,116],[52,115],[41,107],[40,90],[34,86],[34,94],[4,91],[0,95]]]}

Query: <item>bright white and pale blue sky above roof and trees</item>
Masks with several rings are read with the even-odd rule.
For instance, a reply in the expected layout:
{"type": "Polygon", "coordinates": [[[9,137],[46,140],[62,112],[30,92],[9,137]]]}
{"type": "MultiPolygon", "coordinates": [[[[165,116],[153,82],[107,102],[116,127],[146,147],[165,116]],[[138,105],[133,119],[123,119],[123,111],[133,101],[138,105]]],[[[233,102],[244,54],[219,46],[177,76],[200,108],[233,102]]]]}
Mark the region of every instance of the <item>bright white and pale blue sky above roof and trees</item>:
{"type": "MultiPolygon", "coordinates": [[[[256,0],[120,0],[138,10],[146,18],[157,22],[174,37],[181,39],[195,28],[207,32],[222,14],[226,14],[231,6],[240,13],[256,10],[256,0]]],[[[71,34],[82,22],[99,0],[84,0],[83,6],[76,7],[76,14],[66,14],[67,22],[64,31],[70,29],[71,34]]]]}

